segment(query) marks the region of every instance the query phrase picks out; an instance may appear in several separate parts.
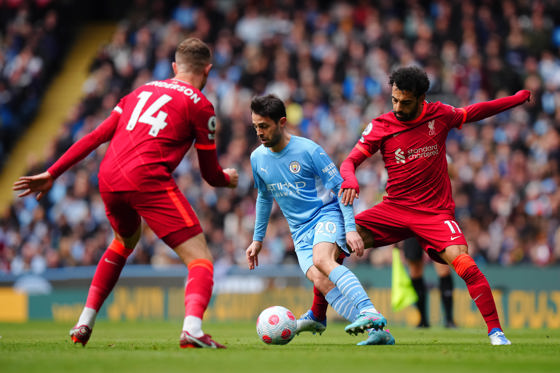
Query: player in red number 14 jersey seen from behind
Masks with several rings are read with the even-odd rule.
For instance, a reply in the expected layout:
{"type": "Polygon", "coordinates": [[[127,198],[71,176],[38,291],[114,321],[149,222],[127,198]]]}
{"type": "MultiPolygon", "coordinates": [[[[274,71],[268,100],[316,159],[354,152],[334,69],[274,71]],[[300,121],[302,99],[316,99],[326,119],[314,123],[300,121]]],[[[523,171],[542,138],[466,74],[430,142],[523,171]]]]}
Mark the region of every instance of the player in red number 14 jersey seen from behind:
{"type": "Polygon", "coordinates": [[[37,192],[41,199],[58,176],[110,141],[99,169],[99,191],[115,238],[70,330],[74,343],[88,342],[99,309],[140,239],[143,218],[189,269],[180,346],[224,348],[202,331],[214,284],[213,259],[198,218],[171,175],[194,143],[202,177],[212,186],[237,186],[237,171],[222,170],[218,163],[214,108],[201,92],[211,68],[208,46],[196,38],[184,40],[175,52],[173,79],[147,83],[123,97],[105,121],[46,172],[14,183],[14,190],[23,191],[19,197],[37,192]]]}

